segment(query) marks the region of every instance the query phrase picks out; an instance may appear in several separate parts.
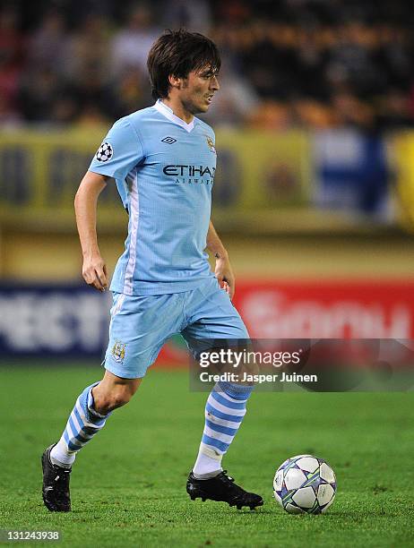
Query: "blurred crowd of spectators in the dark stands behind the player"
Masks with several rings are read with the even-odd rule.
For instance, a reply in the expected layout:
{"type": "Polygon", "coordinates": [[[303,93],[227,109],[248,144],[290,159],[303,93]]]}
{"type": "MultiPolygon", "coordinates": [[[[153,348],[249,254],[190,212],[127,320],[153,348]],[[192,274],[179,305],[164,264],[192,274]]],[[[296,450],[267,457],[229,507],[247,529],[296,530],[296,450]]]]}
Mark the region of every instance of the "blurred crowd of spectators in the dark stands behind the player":
{"type": "Polygon", "coordinates": [[[0,124],[108,124],[151,105],[166,28],[223,57],[208,121],[284,129],[414,123],[412,9],[402,0],[14,0],[0,8],[0,124]]]}

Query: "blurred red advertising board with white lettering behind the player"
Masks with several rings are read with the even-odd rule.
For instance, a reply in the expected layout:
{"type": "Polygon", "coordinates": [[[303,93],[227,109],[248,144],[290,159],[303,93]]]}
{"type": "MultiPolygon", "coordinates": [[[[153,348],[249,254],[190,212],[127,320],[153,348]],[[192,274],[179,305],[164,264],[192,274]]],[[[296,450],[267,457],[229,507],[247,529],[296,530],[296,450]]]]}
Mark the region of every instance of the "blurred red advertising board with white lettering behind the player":
{"type": "MultiPolygon", "coordinates": [[[[414,338],[414,278],[237,280],[233,302],[251,338],[414,338]]],[[[159,362],[185,356],[171,343],[159,362]]]]}

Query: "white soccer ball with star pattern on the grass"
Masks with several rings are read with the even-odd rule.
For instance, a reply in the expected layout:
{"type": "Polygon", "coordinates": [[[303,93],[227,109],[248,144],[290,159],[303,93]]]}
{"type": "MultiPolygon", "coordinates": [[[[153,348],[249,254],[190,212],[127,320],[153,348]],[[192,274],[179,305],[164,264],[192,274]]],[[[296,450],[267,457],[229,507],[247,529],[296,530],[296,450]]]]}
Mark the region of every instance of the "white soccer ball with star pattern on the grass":
{"type": "Polygon", "coordinates": [[[323,514],[336,493],[336,478],[323,458],[297,455],[277,469],[273,494],[289,514],[323,514]]]}

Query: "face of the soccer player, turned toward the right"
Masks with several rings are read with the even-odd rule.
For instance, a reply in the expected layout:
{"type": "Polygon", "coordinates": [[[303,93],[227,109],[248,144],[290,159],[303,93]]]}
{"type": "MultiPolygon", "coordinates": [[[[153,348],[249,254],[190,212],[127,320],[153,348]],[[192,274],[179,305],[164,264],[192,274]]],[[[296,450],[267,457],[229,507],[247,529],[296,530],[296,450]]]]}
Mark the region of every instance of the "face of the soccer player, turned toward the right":
{"type": "Polygon", "coordinates": [[[181,102],[191,114],[207,112],[216,91],[220,90],[217,73],[211,67],[205,67],[199,72],[191,72],[183,81],[180,90],[181,102]]]}

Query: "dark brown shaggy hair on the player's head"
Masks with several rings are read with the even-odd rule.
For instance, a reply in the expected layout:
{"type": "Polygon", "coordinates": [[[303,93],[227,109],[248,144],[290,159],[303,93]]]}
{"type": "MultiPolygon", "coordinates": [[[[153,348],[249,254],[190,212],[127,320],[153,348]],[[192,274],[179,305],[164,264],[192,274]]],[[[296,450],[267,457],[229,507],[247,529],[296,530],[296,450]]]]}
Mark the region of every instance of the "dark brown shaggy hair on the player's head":
{"type": "Polygon", "coordinates": [[[153,98],[168,97],[168,76],[186,78],[192,71],[210,67],[211,73],[220,70],[220,54],[211,39],[188,30],[166,30],[152,44],[147,67],[153,98]]]}

